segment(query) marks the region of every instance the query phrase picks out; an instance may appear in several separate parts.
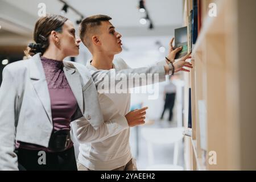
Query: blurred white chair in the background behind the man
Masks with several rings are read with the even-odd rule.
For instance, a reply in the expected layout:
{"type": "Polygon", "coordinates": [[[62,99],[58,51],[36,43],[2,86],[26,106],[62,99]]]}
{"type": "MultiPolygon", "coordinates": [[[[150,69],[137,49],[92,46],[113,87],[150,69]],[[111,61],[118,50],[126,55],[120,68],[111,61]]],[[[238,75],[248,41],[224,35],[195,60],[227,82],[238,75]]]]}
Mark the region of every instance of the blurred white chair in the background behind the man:
{"type": "Polygon", "coordinates": [[[179,143],[183,139],[183,127],[175,128],[142,128],[142,137],[147,142],[148,167],[147,171],[183,171],[183,167],[177,166],[179,156],[179,143]],[[153,145],[174,144],[173,164],[154,164],[153,145]]]}

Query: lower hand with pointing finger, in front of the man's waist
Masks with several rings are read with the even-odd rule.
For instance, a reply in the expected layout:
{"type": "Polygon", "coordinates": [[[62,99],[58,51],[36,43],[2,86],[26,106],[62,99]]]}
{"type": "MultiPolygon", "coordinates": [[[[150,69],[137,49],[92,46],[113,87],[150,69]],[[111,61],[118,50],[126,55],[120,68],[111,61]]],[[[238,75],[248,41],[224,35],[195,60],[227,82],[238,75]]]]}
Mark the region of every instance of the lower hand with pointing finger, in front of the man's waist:
{"type": "Polygon", "coordinates": [[[127,113],[125,115],[125,118],[128,122],[128,125],[130,127],[143,125],[145,123],[144,119],[145,119],[147,109],[148,107],[143,107],[142,109],[135,109],[127,113]]]}

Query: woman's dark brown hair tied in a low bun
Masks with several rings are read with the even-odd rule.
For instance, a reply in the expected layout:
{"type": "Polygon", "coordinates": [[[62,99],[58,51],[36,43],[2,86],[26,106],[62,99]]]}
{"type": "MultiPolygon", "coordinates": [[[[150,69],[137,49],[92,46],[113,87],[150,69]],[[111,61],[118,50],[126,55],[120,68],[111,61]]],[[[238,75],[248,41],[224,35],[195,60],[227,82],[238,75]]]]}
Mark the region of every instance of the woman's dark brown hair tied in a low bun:
{"type": "Polygon", "coordinates": [[[49,35],[51,31],[62,31],[63,24],[68,19],[61,15],[48,14],[38,19],[34,28],[34,41],[30,43],[28,49],[24,51],[26,56],[34,56],[36,53],[41,52],[42,55],[49,47],[49,35]]]}

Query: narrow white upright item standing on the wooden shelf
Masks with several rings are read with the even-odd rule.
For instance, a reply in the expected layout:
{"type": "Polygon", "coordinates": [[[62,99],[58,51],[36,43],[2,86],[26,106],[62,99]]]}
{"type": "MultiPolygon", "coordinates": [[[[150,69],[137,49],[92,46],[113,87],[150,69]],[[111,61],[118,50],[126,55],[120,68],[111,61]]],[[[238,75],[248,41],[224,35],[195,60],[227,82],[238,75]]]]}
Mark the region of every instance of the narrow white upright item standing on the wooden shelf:
{"type": "Polygon", "coordinates": [[[199,108],[199,127],[200,127],[200,146],[207,151],[207,109],[205,101],[198,101],[199,108]]]}

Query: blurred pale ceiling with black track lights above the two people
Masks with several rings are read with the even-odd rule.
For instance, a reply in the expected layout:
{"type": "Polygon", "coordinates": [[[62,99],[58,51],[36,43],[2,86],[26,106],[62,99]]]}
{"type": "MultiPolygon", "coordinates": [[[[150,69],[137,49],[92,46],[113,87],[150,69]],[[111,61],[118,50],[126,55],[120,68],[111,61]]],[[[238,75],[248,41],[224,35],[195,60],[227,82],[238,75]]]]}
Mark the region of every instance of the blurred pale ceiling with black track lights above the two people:
{"type": "MultiPolygon", "coordinates": [[[[154,30],[148,30],[148,25],[143,26],[139,23],[139,19],[144,16],[137,9],[139,0],[66,0],[66,2],[80,11],[84,17],[94,14],[111,16],[112,23],[123,35],[123,43],[130,51],[157,50],[155,41],[159,40],[159,37],[162,38],[163,46],[168,47],[169,39],[174,36],[174,28],[180,27],[183,22],[182,0],[145,0],[146,8],[154,23],[154,30]],[[129,37],[131,39],[126,39],[129,37]],[[149,37],[150,39],[147,39],[149,37]]],[[[32,30],[36,19],[39,18],[39,3],[46,4],[47,13],[60,14],[63,7],[63,3],[59,0],[0,0],[0,26],[2,25],[0,45],[24,45],[31,42],[32,30]],[[10,32],[14,34],[10,35],[10,32]],[[17,34],[21,35],[20,38],[17,34]]],[[[80,18],[70,9],[65,16],[74,24],[80,18]]]]}

